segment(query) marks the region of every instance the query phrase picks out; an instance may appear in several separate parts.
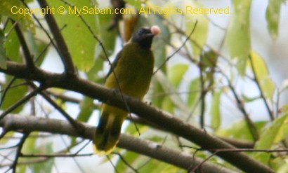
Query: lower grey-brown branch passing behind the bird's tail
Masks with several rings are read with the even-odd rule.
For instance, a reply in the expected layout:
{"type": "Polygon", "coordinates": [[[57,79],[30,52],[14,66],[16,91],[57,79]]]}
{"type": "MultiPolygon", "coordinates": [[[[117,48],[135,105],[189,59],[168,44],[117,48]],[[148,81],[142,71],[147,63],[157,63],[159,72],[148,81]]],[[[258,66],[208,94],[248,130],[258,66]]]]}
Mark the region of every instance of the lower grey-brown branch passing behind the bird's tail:
{"type": "MultiPolygon", "coordinates": [[[[0,126],[7,128],[8,130],[21,130],[25,133],[34,131],[50,132],[55,134],[67,134],[74,137],[82,137],[84,139],[92,139],[95,127],[86,125],[84,126],[84,133],[79,134],[70,123],[65,120],[55,120],[48,118],[37,118],[34,116],[17,116],[9,115],[0,120],[0,126]]],[[[162,160],[169,164],[176,165],[183,169],[189,169],[190,167],[197,167],[204,160],[195,158],[189,153],[176,151],[166,146],[162,146],[152,141],[131,137],[127,134],[122,134],[118,145],[121,148],[129,149],[136,153],[148,155],[149,157],[162,160]]],[[[221,167],[211,162],[204,162],[200,167],[202,172],[227,172],[231,173],[233,170],[221,167]]]]}

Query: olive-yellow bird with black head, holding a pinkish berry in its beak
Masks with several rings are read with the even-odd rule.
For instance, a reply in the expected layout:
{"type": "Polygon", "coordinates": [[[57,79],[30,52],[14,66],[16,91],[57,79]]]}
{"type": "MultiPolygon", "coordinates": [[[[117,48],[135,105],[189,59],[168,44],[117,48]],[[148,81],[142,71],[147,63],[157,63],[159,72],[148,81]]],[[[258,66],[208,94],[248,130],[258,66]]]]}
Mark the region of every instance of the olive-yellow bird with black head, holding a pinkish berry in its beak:
{"type": "MultiPolygon", "coordinates": [[[[111,64],[105,79],[106,88],[143,99],[149,90],[153,74],[152,40],[160,32],[161,29],[153,25],[150,28],[140,28],[133,34],[111,64]]],[[[99,156],[114,150],[119,141],[122,123],[128,115],[127,111],[107,103],[101,105],[100,120],[93,139],[94,151],[99,156]]]]}

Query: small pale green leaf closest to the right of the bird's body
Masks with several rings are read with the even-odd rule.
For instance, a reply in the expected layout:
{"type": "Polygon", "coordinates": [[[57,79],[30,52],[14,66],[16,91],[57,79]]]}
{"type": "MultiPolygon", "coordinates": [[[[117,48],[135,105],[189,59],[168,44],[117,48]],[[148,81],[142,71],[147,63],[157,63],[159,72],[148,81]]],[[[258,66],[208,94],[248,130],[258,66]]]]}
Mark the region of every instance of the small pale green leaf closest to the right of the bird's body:
{"type": "Polygon", "coordinates": [[[188,68],[188,64],[176,64],[173,67],[169,68],[169,81],[171,81],[171,83],[173,83],[176,88],[179,87],[181,81],[183,80],[183,76],[188,70],[188,68]]]}

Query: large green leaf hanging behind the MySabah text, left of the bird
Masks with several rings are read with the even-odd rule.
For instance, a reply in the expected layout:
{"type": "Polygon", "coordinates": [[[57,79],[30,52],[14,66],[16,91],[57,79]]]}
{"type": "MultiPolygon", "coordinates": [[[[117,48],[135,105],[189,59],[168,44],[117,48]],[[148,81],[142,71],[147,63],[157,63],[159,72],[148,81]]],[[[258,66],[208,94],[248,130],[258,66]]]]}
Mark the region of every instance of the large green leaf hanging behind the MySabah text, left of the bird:
{"type": "MultiPolygon", "coordinates": [[[[89,8],[94,8],[91,5],[91,1],[83,0],[71,0],[71,4],[77,6],[78,8],[87,6],[89,8]]],[[[51,0],[49,1],[51,7],[57,9],[59,6],[65,7],[67,11],[72,11],[74,8],[67,6],[62,1],[51,0]]],[[[66,26],[63,31],[63,37],[65,43],[68,46],[70,54],[74,64],[77,68],[83,71],[89,71],[93,67],[93,60],[95,57],[96,50],[96,39],[93,38],[90,29],[100,38],[99,31],[99,21],[98,15],[81,15],[89,26],[85,25],[84,22],[76,14],[65,13],[63,15],[55,13],[54,17],[58,23],[59,28],[66,26]]]]}

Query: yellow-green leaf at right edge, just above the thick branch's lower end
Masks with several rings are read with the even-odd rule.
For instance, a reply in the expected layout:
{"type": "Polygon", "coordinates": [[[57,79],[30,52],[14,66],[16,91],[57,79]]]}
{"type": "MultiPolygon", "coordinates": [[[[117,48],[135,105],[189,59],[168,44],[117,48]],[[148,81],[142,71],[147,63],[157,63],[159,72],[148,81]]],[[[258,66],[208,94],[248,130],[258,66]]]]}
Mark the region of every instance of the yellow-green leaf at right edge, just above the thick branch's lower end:
{"type": "MultiPolygon", "coordinates": [[[[277,144],[288,137],[288,114],[281,116],[273,121],[270,127],[267,127],[263,133],[261,133],[260,139],[256,142],[256,149],[270,149],[273,148],[273,144],[277,144]]],[[[267,164],[271,153],[258,152],[254,154],[254,157],[267,164]]]]}

